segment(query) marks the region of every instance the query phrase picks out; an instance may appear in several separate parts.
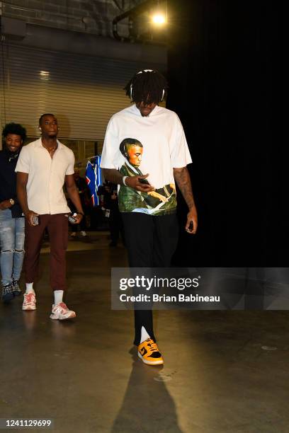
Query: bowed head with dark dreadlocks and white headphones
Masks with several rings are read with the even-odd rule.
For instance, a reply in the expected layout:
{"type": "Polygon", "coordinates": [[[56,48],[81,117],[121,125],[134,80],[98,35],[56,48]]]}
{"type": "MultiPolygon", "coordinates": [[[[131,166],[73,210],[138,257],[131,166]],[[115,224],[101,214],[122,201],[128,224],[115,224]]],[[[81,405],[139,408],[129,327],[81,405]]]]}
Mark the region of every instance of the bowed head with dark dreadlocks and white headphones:
{"type": "Polygon", "coordinates": [[[166,98],[167,88],[168,83],[159,71],[142,70],[136,72],[125,86],[125,94],[135,103],[158,104],[166,98]]]}

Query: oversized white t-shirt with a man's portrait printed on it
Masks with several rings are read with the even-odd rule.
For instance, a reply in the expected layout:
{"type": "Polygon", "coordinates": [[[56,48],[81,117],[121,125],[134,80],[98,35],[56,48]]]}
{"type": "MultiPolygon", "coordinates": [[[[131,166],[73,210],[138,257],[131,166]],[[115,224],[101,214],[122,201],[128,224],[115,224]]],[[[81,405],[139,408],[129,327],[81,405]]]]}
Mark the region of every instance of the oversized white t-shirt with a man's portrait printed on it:
{"type": "Polygon", "coordinates": [[[176,212],[174,168],[191,163],[185,133],[174,111],[159,107],[143,117],[131,105],[111,117],[103,144],[101,168],[116,168],[123,175],[145,175],[155,187],[140,192],[120,185],[120,212],[164,215],[176,212]]]}

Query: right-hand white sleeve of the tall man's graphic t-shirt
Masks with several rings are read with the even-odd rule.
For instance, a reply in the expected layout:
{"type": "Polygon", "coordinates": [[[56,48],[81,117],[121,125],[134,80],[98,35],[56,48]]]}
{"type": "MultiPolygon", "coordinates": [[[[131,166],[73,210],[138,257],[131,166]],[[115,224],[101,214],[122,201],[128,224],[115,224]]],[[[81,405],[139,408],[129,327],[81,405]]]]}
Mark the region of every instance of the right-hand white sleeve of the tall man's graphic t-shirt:
{"type": "Polygon", "coordinates": [[[179,117],[176,115],[174,139],[171,144],[171,165],[173,168],[182,168],[186,167],[191,162],[192,158],[188,150],[183,125],[181,125],[181,120],[179,120],[179,117]]]}

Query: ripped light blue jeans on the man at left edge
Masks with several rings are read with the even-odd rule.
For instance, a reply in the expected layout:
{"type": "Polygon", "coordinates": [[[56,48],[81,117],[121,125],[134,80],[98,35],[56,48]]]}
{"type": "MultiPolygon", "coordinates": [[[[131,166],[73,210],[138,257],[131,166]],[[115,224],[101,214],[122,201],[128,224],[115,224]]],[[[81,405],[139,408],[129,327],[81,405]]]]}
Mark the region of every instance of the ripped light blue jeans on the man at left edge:
{"type": "Polygon", "coordinates": [[[12,218],[11,210],[0,210],[1,283],[20,279],[24,258],[25,218],[12,218]]]}

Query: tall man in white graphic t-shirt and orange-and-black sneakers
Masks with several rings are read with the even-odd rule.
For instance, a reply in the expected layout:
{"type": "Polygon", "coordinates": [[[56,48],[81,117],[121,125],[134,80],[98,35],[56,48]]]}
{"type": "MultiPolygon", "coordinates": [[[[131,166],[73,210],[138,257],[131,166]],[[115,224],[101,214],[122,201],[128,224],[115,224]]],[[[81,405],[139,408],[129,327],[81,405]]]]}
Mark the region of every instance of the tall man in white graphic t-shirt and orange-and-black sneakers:
{"type": "MultiPolygon", "coordinates": [[[[101,167],[120,185],[130,267],[169,267],[178,239],[175,181],[188,205],[186,231],[197,230],[183,127],[175,112],[159,107],[166,88],[158,71],[137,72],[125,87],[134,104],[113,115],[106,130],[101,167]]],[[[134,343],[145,364],[163,364],[151,310],[135,310],[134,343]]]]}

